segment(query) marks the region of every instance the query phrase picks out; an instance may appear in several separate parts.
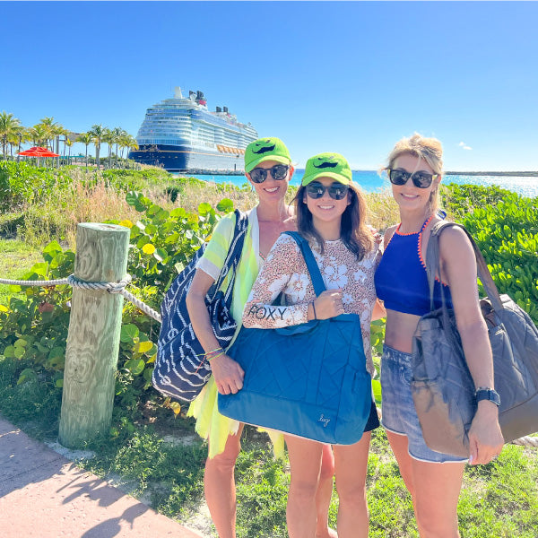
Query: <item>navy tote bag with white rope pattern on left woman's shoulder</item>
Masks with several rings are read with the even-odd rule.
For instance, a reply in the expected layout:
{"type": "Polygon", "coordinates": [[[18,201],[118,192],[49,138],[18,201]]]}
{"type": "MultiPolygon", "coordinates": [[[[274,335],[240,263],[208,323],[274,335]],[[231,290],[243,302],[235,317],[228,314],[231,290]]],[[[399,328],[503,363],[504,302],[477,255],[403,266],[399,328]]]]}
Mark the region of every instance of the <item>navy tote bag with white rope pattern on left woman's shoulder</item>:
{"type": "MultiPolygon", "coordinates": [[[[205,296],[213,333],[224,349],[230,345],[237,328],[237,323],[230,314],[231,294],[248,226],[246,214],[239,210],[235,214],[236,222],[228,256],[219,278],[205,296]],[[230,282],[226,291],[221,291],[222,282],[228,273],[231,274],[230,282]]],[[[196,251],[187,267],[172,282],[161,302],[161,332],[152,375],[152,385],[159,392],[187,402],[192,402],[200,394],[211,376],[209,361],[205,360],[204,349],[196,338],[186,303],[196,263],[204,254],[205,246],[202,245],[196,251]]]]}

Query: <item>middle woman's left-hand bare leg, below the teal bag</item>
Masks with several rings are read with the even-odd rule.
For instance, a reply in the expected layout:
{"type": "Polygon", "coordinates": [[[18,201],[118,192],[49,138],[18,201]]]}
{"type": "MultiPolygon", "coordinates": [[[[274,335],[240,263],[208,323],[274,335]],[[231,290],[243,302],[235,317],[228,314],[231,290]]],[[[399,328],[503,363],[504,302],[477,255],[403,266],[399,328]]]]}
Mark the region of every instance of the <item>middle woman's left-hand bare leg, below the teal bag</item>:
{"type": "Polygon", "coordinates": [[[316,491],[323,444],[284,436],[291,467],[286,520],[290,538],[312,538],[316,534],[316,491]]]}

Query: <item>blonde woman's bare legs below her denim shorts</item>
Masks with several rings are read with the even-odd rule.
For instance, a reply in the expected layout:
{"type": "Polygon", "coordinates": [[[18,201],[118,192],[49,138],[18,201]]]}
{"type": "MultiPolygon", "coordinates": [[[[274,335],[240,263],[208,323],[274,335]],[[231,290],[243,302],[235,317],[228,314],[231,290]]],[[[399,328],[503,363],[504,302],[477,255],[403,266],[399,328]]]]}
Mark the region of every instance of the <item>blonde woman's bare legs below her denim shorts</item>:
{"type": "Polygon", "coordinates": [[[464,463],[444,464],[412,458],[407,438],[386,433],[412,494],[412,502],[421,538],[459,538],[457,500],[462,487],[464,463]]]}

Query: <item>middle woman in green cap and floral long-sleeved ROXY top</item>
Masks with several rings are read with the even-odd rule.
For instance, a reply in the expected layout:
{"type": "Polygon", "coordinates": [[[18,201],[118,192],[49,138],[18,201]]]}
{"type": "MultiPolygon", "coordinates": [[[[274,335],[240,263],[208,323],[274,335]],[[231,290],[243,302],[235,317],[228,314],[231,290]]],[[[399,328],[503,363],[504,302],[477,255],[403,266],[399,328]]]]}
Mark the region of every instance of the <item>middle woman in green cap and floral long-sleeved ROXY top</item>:
{"type": "MultiPolygon", "coordinates": [[[[381,317],[374,273],[381,257],[381,238],[367,225],[367,207],[360,189],[352,182],[348,162],[338,153],[320,153],[308,160],[295,198],[299,233],[308,239],[322,273],[326,291],[318,297],[299,246],[289,235],[276,240],[252,287],[243,311],[243,325],[277,328],[343,313],[360,316],[366,357],[365,367],[375,372],[370,349],[372,316],[381,317]],[[283,294],[279,316],[271,312],[283,294]]],[[[371,430],[379,425],[372,400],[369,419],[360,441],[334,445],[336,490],[339,497],[338,537],[366,538],[369,516],[366,504],[366,472],[371,430]]],[[[291,538],[312,538],[316,529],[316,492],[324,445],[285,435],[291,465],[287,521],[291,538]]]]}

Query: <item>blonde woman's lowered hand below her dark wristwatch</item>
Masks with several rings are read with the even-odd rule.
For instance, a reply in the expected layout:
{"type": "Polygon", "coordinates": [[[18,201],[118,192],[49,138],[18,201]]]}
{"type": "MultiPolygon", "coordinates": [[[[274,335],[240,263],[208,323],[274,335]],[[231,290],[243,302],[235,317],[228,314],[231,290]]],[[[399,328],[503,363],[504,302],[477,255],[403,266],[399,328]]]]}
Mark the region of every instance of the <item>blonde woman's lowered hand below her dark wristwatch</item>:
{"type": "Polygon", "coordinates": [[[499,426],[499,411],[495,404],[482,400],[469,430],[469,464],[488,464],[499,456],[504,438],[499,426]]]}

